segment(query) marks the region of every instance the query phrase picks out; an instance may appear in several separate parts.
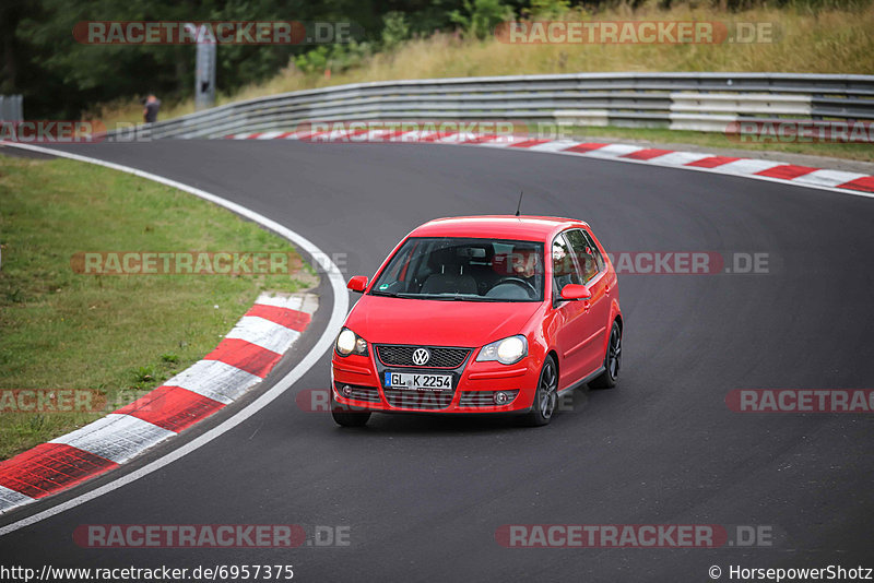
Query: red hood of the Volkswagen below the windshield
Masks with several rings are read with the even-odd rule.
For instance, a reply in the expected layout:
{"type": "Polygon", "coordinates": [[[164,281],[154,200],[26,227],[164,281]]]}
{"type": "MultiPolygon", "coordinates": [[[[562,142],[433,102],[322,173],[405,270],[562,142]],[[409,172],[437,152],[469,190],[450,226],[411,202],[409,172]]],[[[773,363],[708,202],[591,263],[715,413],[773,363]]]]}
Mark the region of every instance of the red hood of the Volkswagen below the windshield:
{"type": "Polygon", "coordinates": [[[541,308],[539,301],[444,301],[363,296],[346,326],[371,344],[477,347],[513,334],[541,308]]]}

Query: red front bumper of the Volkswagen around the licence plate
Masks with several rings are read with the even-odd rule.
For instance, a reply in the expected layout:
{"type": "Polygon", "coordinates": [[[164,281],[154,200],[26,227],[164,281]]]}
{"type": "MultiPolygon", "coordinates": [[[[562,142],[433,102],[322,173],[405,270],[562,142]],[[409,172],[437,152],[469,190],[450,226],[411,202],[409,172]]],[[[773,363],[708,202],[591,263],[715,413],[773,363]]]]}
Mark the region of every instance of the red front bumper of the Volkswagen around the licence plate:
{"type": "Polygon", "coordinates": [[[420,413],[521,413],[529,411],[540,376],[531,356],[515,365],[476,362],[479,350],[456,369],[391,367],[368,356],[333,354],[331,390],[341,405],[381,412],[420,413]],[[416,391],[386,386],[386,372],[452,374],[452,390],[416,391]],[[511,395],[506,404],[495,403],[495,394],[511,395]]]}

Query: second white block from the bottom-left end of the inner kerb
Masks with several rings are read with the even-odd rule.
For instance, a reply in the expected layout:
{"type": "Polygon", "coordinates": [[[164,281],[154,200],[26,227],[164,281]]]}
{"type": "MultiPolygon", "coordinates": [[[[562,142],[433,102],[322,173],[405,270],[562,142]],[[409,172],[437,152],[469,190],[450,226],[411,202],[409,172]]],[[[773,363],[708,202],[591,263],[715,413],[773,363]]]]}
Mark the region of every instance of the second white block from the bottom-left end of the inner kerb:
{"type": "Polygon", "coordinates": [[[121,464],[175,435],[137,417],[110,413],[49,443],[64,443],[121,464]]]}

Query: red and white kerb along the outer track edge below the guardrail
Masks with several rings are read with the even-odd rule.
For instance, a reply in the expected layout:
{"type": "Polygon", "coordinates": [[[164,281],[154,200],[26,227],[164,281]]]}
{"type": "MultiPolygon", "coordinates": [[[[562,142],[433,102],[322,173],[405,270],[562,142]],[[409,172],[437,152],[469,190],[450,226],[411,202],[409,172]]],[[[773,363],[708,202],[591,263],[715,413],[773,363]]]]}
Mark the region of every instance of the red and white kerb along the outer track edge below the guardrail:
{"type": "Polygon", "coordinates": [[[327,132],[253,132],[225,136],[228,140],[305,140],[312,143],[436,143],[468,146],[506,147],[529,152],[551,152],[589,158],[634,162],[657,166],[742,176],[759,180],[788,182],[861,195],[874,195],[874,176],[842,170],[798,166],[784,162],[718,156],[699,152],[677,152],[626,144],[574,142],[568,140],[530,140],[512,135],[481,135],[472,133],[438,133],[423,131],[334,130],[327,132]]]}

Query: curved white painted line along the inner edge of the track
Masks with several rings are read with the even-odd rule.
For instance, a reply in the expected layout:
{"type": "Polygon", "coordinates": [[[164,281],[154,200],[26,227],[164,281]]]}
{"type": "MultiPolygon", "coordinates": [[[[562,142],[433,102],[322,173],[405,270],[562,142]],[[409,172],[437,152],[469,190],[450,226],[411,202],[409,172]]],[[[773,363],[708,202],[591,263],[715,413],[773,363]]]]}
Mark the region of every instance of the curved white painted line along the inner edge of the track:
{"type": "Polygon", "coordinates": [[[42,154],[49,154],[54,156],[75,159],[79,162],[85,162],[88,164],[96,164],[98,166],[104,166],[106,168],[113,168],[115,170],[120,170],[122,172],[132,174],[134,176],[139,176],[141,178],[146,178],[149,180],[154,180],[155,182],[161,182],[162,185],[167,185],[168,187],[173,187],[179,190],[184,190],[189,192],[196,197],[201,199],[208,200],[212,203],[215,203],[220,206],[224,206],[229,211],[237,213],[238,215],[245,216],[246,218],[253,221],[261,225],[264,228],[268,228],[280,236],[288,239],[293,245],[297,246],[298,249],[303,250],[304,252],[308,253],[317,261],[319,261],[320,266],[324,274],[328,277],[329,283],[331,284],[331,293],[333,294],[333,307],[331,308],[331,317],[328,322],[328,326],[324,329],[324,332],[319,337],[316,345],[304,356],[303,359],[294,367],[285,377],[276,381],[276,384],[271,386],[264,394],[249,403],[247,406],[238,411],[233,417],[226,419],[221,425],[210,429],[205,433],[192,439],[188,443],[180,445],[169,452],[162,457],[158,457],[154,462],[149,463],[147,465],[125,474],[116,478],[115,480],[101,486],[99,488],[94,488],[85,493],[76,496],[66,502],[61,502],[59,504],[55,504],[42,512],[37,512],[31,516],[22,519],[20,521],[13,522],[11,524],[7,524],[5,526],[0,527],[0,536],[4,534],[9,534],[11,532],[17,531],[19,528],[23,528],[29,524],[35,524],[37,522],[44,521],[48,517],[54,516],[55,514],[60,514],[66,510],[70,510],[75,508],[80,504],[83,504],[90,500],[94,500],[95,498],[99,498],[105,493],[109,493],[122,486],[130,484],[131,481],[135,481],[143,476],[147,476],[152,472],[156,469],[161,469],[162,467],[172,464],[176,460],[184,457],[185,455],[191,453],[192,451],[197,450],[198,448],[205,445],[213,439],[221,437],[222,435],[226,433],[231,429],[235,428],[270,403],[272,403],[276,397],[279,397],[282,393],[287,391],[298,379],[300,379],[314,365],[316,365],[321,356],[328,352],[334,342],[334,336],[338,332],[340,332],[340,326],[343,324],[343,319],[346,317],[346,312],[349,311],[349,293],[346,291],[346,285],[343,281],[343,276],[340,272],[340,269],[330,260],[330,258],[321,251],[318,247],[316,247],[309,239],[305,238],[302,235],[293,231],[288,227],[276,223],[261,214],[256,213],[255,211],[250,211],[245,206],[241,206],[235,202],[232,202],[227,199],[223,199],[205,190],[201,190],[199,188],[190,187],[188,185],[184,185],[182,182],[178,182],[176,180],[170,180],[168,178],[164,178],[162,176],[146,172],[143,170],[138,170],[137,168],[131,168],[130,166],[123,166],[120,164],[114,164],[110,162],[105,162],[98,158],[92,158],[88,156],[80,156],[78,154],[70,154],[67,152],[61,152],[57,150],[51,150],[48,147],[40,147],[34,146],[31,144],[11,144],[8,142],[3,142],[4,145],[9,145],[12,147],[20,147],[22,150],[29,150],[32,152],[39,152],[42,154]]]}

